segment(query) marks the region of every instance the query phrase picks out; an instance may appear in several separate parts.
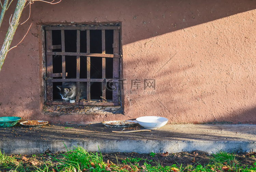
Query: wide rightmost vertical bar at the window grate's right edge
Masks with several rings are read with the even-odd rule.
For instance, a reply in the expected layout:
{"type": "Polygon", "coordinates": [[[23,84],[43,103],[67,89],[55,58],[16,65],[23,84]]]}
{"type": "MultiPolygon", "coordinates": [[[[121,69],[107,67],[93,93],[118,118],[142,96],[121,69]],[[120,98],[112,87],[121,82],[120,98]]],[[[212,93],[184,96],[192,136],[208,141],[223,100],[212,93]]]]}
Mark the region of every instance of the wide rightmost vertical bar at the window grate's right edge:
{"type": "MultiPolygon", "coordinates": [[[[120,30],[114,30],[114,44],[113,46],[113,54],[114,57],[115,55],[119,55],[120,51],[120,30]]],[[[119,63],[120,63],[120,58],[113,58],[113,79],[119,79],[119,63]]],[[[117,103],[118,102],[118,84],[116,82],[113,83],[113,87],[115,88],[113,90],[113,102],[117,103]]]]}

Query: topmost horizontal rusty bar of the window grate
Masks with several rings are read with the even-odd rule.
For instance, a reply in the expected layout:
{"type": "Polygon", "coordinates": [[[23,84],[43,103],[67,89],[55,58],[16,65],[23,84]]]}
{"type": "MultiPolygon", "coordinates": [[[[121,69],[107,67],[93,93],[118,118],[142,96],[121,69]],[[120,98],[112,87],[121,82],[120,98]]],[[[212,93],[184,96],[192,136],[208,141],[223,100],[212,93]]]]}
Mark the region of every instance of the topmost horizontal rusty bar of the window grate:
{"type": "Polygon", "coordinates": [[[120,30],[120,26],[49,26],[45,30],[120,30]]]}

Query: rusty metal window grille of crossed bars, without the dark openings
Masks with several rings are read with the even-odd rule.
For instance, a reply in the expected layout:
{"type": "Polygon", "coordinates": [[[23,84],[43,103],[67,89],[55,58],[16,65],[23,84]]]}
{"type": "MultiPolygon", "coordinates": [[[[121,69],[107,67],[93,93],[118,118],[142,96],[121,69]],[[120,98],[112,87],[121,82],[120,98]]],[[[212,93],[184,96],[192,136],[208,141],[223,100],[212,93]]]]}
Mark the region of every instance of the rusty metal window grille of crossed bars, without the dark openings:
{"type": "Polygon", "coordinates": [[[119,80],[120,80],[120,26],[45,26],[45,55],[46,55],[46,100],[45,105],[102,105],[102,106],[118,106],[120,105],[119,80]],[[61,31],[61,45],[52,45],[52,31],[61,31]],[[65,52],[65,30],[76,30],[76,52],[65,52]],[[90,30],[101,30],[102,35],[102,53],[90,53],[90,30]],[[105,54],[105,30],[113,30],[113,54],[105,54]],[[86,31],[87,52],[80,52],[80,31],[86,31]],[[61,52],[55,52],[54,49],[61,49],[61,52]],[[62,56],[62,73],[53,73],[53,55],[62,56]],[[76,56],[76,78],[66,78],[65,56],[76,56]],[[87,58],[87,78],[80,79],[80,56],[87,58]],[[102,78],[90,78],[90,58],[102,57],[102,78]],[[106,79],[106,57],[113,58],[113,79],[106,79]],[[56,79],[54,77],[62,77],[56,79]],[[53,100],[53,83],[54,82],[76,82],[76,101],[75,103],[53,100]],[[79,85],[80,82],[87,82],[87,101],[80,101],[79,85]],[[90,83],[102,83],[102,99],[90,99],[90,83]],[[112,100],[106,100],[106,83],[112,82],[112,100]]]}

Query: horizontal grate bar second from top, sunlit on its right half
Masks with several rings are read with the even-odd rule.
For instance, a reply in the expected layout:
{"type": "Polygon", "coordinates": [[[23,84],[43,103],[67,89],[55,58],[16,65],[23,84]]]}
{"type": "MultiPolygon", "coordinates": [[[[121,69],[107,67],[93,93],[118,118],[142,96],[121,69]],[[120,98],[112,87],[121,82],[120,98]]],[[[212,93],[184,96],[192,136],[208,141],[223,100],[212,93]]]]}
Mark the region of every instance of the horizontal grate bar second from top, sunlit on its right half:
{"type": "Polygon", "coordinates": [[[91,57],[111,57],[119,58],[117,55],[113,54],[98,54],[98,53],[78,53],[78,52],[51,52],[47,51],[46,55],[68,55],[68,56],[91,56],[91,57]]]}

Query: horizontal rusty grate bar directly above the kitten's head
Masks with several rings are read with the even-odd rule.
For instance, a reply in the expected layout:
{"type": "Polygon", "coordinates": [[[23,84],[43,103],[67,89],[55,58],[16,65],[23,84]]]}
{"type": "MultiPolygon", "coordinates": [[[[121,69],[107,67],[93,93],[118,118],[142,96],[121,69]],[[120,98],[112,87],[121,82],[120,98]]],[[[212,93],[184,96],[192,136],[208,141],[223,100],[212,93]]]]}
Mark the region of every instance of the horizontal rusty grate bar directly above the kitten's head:
{"type": "Polygon", "coordinates": [[[113,83],[118,83],[120,80],[115,79],[52,79],[52,78],[47,78],[47,82],[113,82],[113,83]]]}

